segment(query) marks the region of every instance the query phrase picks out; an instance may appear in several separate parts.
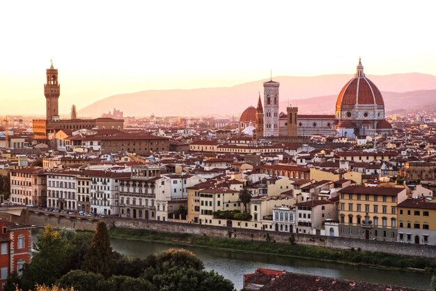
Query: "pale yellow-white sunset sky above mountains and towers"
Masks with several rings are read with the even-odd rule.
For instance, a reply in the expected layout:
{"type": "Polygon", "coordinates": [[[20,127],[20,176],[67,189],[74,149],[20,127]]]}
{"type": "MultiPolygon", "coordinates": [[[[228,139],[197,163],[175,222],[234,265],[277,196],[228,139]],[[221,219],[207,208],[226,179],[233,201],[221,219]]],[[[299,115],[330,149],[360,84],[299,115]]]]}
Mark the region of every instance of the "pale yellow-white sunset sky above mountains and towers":
{"type": "MultiPolygon", "coordinates": [[[[278,75],[436,75],[436,1],[1,1],[0,114],[278,75]],[[3,104],[3,105],[2,105],[3,104]]],[[[41,111],[42,110],[42,111],[41,111]]]]}

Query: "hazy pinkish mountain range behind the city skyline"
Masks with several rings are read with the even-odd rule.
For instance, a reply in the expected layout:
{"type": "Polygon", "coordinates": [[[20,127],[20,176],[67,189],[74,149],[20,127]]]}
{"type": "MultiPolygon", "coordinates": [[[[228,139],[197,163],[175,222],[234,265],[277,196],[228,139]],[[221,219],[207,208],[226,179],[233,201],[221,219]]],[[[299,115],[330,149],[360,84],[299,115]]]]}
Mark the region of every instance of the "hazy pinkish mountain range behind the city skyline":
{"type": "MultiPolygon", "coordinates": [[[[288,103],[299,107],[301,114],[333,114],[336,97],[353,75],[315,77],[274,77],[280,82],[280,107],[288,103]]],[[[367,75],[382,91],[387,113],[411,110],[436,110],[436,77],[421,73],[367,75]]],[[[100,117],[114,107],[125,116],[198,116],[238,114],[249,105],[256,106],[258,92],[263,98],[263,82],[249,82],[234,87],[148,90],[118,94],[99,100],[79,110],[80,117],[100,117]]]]}

